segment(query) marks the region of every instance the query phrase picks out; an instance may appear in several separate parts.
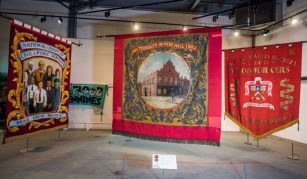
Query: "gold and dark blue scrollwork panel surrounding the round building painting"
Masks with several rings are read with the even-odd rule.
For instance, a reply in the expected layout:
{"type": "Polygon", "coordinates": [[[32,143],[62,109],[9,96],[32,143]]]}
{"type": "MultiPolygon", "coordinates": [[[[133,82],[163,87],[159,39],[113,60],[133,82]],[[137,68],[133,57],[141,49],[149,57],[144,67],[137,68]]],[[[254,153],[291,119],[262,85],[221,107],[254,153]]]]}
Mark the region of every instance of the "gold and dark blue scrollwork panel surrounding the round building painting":
{"type": "Polygon", "coordinates": [[[207,125],[207,34],[177,35],[170,37],[147,37],[125,41],[123,117],[146,123],[166,125],[207,125]],[[185,51],[171,47],[156,47],[131,53],[131,49],[160,41],[194,42],[201,47],[197,52],[183,59],[189,66],[192,83],[185,100],[170,110],[152,109],[146,106],[137,90],[137,73],[142,62],[157,51],[172,52],[185,56],[185,51]]]}

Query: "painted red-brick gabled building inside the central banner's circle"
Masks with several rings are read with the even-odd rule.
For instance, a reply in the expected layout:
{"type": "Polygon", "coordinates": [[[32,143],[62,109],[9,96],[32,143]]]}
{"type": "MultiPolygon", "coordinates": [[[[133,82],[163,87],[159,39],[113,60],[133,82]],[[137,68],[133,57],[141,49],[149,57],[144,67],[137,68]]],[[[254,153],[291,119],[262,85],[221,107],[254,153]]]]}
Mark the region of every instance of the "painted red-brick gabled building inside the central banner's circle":
{"type": "Polygon", "coordinates": [[[160,70],[149,74],[138,84],[142,96],[175,96],[187,95],[190,80],[180,76],[174,64],[168,60],[160,70]]]}

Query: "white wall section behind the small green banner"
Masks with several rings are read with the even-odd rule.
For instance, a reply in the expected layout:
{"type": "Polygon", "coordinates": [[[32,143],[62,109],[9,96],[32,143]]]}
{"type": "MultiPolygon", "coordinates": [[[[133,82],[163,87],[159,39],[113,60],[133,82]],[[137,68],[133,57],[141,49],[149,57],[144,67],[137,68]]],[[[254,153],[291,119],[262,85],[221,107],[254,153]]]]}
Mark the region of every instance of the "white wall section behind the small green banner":
{"type": "MultiPolygon", "coordinates": [[[[71,39],[76,41],[75,39],[71,39]]],[[[113,84],[114,43],[113,38],[105,40],[81,40],[81,47],[72,48],[71,83],[113,84]]],[[[111,129],[113,89],[110,88],[105,99],[104,114],[86,106],[70,106],[70,127],[111,129]]]]}

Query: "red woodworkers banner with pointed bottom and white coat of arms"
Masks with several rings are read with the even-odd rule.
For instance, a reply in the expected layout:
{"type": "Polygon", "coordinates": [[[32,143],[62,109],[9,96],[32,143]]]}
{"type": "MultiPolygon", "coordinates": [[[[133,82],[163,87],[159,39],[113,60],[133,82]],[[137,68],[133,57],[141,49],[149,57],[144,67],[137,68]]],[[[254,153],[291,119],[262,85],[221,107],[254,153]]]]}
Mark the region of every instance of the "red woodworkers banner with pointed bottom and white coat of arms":
{"type": "Polygon", "coordinates": [[[298,122],[302,43],[225,51],[226,115],[255,138],[298,122]]]}

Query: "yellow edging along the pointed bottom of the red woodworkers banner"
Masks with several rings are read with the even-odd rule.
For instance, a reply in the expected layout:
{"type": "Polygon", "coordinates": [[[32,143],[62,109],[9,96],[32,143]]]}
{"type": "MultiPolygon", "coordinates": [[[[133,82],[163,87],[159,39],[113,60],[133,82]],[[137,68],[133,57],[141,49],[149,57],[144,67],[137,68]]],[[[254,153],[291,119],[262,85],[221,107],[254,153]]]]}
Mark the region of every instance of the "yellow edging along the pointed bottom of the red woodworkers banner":
{"type": "Polygon", "coordinates": [[[294,124],[296,124],[296,123],[299,122],[298,119],[295,119],[294,121],[291,121],[291,122],[289,122],[289,123],[287,123],[287,124],[285,124],[285,125],[283,125],[283,126],[280,126],[280,127],[276,128],[276,129],[270,130],[270,131],[268,131],[268,132],[266,132],[266,133],[264,133],[264,134],[256,135],[256,134],[254,134],[252,131],[250,131],[249,129],[247,129],[245,126],[243,126],[241,123],[239,123],[237,119],[235,119],[234,117],[231,116],[231,114],[225,112],[225,116],[227,116],[228,118],[230,118],[233,122],[235,122],[235,123],[236,123],[237,125],[239,125],[243,130],[245,130],[246,132],[248,132],[251,136],[253,136],[253,137],[256,138],[256,139],[264,138],[264,137],[266,137],[266,136],[268,136],[268,135],[270,135],[270,134],[273,134],[273,133],[275,133],[275,132],[278,132],[278,131],[280,131],[280,130],[283,130],[283,129],[285,129],[285,128],[288,128],[288,127],[290,127],[290,126],[292,126],[292,125],[294,125],[294,124]]]}

